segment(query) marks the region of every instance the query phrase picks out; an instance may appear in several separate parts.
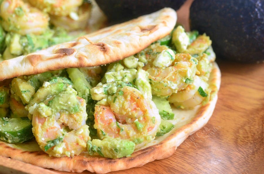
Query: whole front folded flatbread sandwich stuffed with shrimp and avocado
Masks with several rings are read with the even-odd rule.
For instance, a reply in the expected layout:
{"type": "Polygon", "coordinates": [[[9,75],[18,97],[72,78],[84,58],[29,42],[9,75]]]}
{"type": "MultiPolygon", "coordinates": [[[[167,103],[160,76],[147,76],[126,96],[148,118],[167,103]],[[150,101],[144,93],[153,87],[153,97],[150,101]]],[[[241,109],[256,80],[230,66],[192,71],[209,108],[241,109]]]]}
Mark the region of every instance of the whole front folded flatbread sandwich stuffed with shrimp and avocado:
{"type": "Polygon", "coordinates": [[[211,40],[164,8],[0,62],[0,155],[107,173],[172,155],[209,120],[211,40]]]}

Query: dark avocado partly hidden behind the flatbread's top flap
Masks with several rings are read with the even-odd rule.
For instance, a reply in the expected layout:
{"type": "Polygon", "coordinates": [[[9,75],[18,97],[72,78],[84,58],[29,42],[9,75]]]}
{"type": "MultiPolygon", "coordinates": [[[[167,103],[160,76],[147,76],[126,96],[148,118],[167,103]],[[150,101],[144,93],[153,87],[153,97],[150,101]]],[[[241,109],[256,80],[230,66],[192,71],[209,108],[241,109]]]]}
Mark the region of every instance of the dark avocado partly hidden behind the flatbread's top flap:
{"type": "Polygon", "coordinates": [[[111,24],[149,14],[164,7],[175,10],[186,0],[96,0],[111,24]]]}

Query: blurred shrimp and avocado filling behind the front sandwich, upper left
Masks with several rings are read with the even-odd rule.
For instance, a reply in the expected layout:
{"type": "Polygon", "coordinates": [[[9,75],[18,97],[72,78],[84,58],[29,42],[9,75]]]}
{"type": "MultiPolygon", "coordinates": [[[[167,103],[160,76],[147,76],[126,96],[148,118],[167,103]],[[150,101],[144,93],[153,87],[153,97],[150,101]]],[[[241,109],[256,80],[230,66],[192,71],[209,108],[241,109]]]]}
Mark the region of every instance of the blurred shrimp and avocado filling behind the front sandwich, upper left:
{"type": "Polygon", "coordinates": [[[0,0],[0,61],[83,35],[72,31],[85,29],[91,8],[87,0],[0,0]]]}

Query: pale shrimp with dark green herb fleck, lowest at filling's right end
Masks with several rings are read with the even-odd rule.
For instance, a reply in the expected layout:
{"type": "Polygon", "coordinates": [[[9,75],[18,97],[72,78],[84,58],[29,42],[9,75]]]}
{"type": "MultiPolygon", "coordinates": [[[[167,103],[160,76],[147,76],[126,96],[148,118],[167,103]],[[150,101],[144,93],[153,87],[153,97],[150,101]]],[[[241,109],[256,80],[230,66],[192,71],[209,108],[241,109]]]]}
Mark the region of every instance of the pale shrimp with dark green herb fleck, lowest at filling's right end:
{"type": "Polygon", "coordinates": [[[196,75],[193,83],[189,84],[184,90],[173,93],[168,101],[176,107],[189,109],[200,105],[206,99],[207,88],[208,84],[196,75]],[[205,94],[201,94],[200,90],[204,91],[205,94]]]}

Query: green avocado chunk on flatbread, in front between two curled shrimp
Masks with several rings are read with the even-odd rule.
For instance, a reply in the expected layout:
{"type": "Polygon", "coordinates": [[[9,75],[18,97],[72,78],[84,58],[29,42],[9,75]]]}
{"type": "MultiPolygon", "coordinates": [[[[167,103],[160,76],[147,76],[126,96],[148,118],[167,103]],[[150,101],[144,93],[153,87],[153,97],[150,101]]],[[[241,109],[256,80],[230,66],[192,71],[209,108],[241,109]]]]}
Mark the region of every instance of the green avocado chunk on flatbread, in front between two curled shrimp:
{"type": "Polygon", "coordinates": [[[135,143],[120,138],[94,139],[87,142],[87,149],[90,155],[97,153],[106,158],[116,159],[131,155],[134,152],[135,143]]]}

